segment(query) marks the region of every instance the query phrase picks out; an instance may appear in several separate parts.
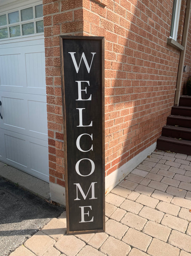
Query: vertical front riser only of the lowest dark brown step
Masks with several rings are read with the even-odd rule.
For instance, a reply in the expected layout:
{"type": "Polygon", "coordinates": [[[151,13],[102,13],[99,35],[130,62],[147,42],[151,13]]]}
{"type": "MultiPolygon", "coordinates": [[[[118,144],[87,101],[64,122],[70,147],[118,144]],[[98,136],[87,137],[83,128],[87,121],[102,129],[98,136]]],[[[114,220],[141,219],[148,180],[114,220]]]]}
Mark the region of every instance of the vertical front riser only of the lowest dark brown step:
{"type": "Polygon", "coordinates": [[[181,154],[190,154],[191,148],[190,145],[178,145],[171,142],[160,141],[160,138],[157,140],[157,149],[169,150],[171,152],[181,153],[181,154]]]}

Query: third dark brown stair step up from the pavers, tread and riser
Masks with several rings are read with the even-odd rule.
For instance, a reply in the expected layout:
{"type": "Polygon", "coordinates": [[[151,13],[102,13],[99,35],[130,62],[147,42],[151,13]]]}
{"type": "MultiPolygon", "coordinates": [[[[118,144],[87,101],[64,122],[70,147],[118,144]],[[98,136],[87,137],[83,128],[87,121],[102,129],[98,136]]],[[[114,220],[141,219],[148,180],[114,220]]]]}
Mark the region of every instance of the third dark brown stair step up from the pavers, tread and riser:
{"type": "Polygon", "coordinates": [[[178,125],[191,128],[191,117],[170,115],[167,117],[167,125],[178,125]]]}

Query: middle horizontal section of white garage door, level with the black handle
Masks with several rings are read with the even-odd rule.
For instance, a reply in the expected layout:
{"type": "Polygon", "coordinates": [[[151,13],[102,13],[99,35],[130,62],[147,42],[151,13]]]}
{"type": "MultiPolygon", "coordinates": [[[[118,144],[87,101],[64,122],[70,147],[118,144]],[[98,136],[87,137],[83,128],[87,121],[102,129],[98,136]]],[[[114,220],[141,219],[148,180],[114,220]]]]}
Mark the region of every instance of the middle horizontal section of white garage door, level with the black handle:
{"type": "Polygon", "coordinates": [[[0,92],[0,128],[48,140],[46,95],[0,92]]]}

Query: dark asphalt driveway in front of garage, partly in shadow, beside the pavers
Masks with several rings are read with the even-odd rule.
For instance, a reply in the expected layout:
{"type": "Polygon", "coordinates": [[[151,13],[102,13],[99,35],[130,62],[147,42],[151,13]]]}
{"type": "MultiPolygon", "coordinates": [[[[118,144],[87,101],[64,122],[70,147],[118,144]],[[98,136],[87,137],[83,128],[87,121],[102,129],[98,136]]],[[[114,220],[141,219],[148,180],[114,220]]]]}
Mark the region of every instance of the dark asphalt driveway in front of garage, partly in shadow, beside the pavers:
{"type": "Polygon", "coordinates": [[[0,177],[0,255],[8,256],[63,211],[0,177]]]}

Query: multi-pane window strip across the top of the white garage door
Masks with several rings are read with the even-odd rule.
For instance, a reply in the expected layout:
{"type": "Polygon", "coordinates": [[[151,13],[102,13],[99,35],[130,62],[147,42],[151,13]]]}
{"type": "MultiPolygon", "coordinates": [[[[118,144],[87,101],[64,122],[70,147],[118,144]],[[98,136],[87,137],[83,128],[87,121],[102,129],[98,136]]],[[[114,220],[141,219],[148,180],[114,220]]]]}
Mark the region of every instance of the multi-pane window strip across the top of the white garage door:
{"type": "Polygon", "coordinates": [[[42,4],[0,15],[0,40],[43,32],[42,4]]]}

